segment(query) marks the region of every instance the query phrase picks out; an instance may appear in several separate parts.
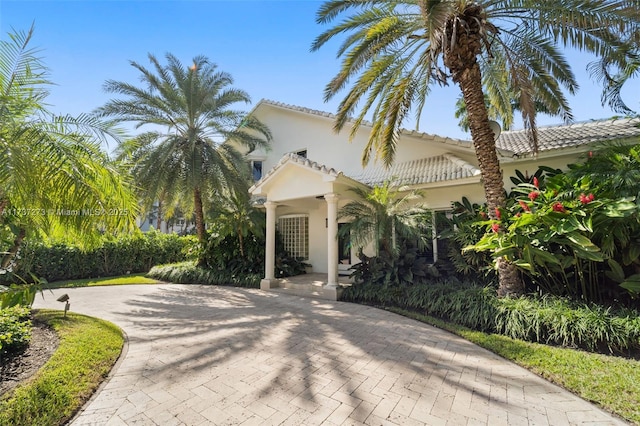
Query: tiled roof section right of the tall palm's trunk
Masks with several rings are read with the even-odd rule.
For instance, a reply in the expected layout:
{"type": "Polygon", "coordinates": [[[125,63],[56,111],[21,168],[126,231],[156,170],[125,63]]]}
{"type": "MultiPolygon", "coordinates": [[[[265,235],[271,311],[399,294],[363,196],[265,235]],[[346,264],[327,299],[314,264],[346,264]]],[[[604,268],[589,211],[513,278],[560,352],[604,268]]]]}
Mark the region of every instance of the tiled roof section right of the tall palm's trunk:
{"type": "MultiPolygon", "coordinates": [[[[640,118],[594,120],[560,126],[538,127],[539,151],[575,148],[581,145],[640,139],[640,118]]],[[[498,149],[516,155],[531,153],[526,130],[502,132],[496,141],[498,149]]]]}

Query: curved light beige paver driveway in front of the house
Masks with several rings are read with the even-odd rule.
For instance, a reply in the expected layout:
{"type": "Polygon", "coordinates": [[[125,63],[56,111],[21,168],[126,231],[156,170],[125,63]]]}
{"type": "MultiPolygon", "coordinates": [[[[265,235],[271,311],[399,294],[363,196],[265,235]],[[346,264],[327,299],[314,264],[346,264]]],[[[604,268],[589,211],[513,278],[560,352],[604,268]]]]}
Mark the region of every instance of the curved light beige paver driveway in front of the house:
{"type": "Polygon", "coordinates": [[[54,290],[128,351],[75,425],[625,424],[444,331],[382,310],[198,285],[54,290]]]}

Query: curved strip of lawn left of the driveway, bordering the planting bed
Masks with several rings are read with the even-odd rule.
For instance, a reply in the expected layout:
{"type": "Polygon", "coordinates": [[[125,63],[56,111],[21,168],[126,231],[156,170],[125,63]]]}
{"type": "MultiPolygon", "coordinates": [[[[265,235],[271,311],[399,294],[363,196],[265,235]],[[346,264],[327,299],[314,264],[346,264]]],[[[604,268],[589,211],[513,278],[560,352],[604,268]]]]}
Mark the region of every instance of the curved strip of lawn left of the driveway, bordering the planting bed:
{"type": "Polygon", "coordinates": [[[124,337],[107,321],[74,313],[40,310],[60,346],[28,382],[0,400],[0,425],[61,425],[91,397],[120,356],[124,337]]]}

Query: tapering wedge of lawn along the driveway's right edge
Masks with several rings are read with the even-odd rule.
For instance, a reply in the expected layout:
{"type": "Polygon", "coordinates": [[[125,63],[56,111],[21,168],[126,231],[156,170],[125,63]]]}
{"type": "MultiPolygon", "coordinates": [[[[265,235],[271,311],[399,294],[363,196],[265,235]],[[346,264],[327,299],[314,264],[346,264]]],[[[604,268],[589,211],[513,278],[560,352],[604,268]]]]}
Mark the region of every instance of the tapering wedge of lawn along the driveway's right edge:
{"type": "Polygon", "coordinates": [[[387,309],[457,334],[609,412],[640,424],[640,361],[524,342],[469,330],[404,309],[387,309]]]}

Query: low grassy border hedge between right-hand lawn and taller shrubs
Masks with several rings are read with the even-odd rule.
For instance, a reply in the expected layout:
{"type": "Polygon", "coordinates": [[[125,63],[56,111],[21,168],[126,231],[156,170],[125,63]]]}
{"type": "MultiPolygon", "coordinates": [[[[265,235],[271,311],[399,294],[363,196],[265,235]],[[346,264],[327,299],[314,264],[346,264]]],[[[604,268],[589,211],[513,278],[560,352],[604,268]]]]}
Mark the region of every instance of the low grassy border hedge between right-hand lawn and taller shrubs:
{"type": "Polygon", "coordinates": [[[639,312],[566,298],[498,298],[491,287],[444,283],[354,285],[345,289],[342,300],[400,307],[531,342],[627,355],[640,350],[639,312]]]}

